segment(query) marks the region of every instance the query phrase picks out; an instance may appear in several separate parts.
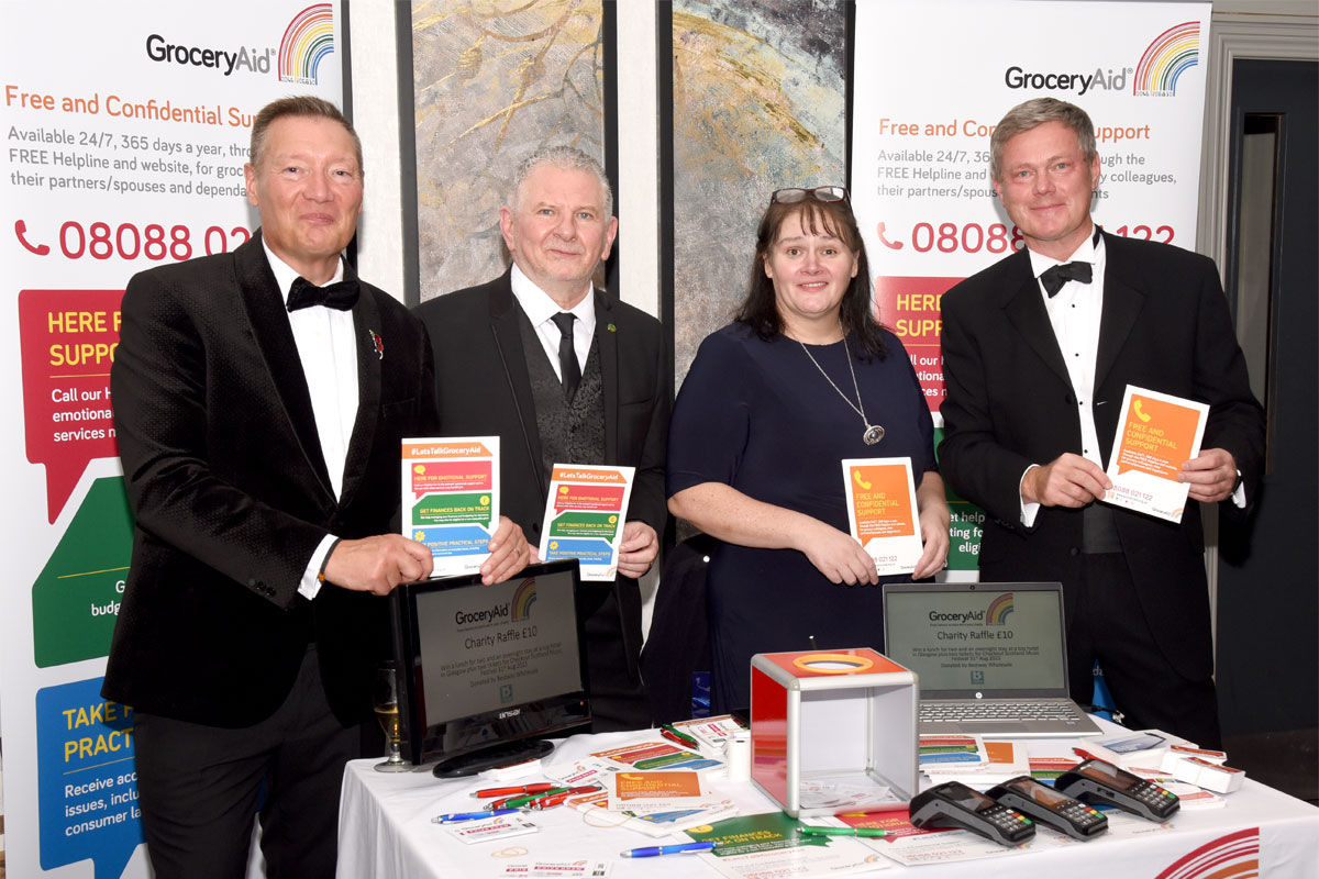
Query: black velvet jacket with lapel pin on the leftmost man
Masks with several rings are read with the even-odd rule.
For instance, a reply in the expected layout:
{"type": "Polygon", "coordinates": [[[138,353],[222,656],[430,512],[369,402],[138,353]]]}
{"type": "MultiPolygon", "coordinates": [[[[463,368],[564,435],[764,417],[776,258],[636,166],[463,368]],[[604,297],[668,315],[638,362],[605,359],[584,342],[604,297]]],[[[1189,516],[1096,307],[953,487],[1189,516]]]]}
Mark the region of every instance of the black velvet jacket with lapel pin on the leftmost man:
{"type": "Polygon", "coordinates": [[[400,440],[431,431],[434,373],[426,331],[389,295],[363,283],[352,315],[357,422],[336,501],[260,233],[129,281],[111,387],[136,531],[108,698],[248,726],[284,701],[314,639],[336,717],[369,713],[385,600],[297,588],[326,534],[397,527],[400,440]]]}

